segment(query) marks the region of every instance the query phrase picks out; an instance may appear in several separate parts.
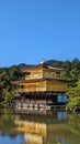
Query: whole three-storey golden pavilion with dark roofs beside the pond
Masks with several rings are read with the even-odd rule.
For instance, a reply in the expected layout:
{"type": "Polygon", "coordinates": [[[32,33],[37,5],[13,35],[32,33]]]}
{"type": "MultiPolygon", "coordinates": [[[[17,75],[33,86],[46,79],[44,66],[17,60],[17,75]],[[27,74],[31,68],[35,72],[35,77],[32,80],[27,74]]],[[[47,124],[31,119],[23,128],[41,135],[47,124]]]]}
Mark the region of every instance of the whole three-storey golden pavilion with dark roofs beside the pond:
{"type": "Polygon", "coordinates": [[[14,82],[16,91],[16,107],[24,110],[47,110],[66,107],[68,82],[60,80],[64,69],[41,63],[22,70],[25,79],[14,82]]]}

